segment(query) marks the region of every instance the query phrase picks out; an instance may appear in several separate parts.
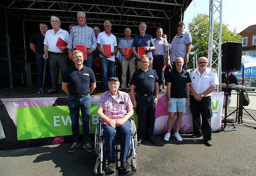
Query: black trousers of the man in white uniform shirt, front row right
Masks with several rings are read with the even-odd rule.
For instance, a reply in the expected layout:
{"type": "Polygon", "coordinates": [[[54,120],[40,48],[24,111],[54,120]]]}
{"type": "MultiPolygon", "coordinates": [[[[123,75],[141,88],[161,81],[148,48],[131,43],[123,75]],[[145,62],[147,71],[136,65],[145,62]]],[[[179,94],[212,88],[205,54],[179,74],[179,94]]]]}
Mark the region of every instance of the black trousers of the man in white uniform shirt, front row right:
{"type": "Polygon", "coordinates": [[[203,97],[202,100],[197,101],[194,96],[191,95],[190,102],[194,133],[203,135],[205,141],[211,140],[211,96],[203,97]],[[200,114],[202,117],[202,125],[200,114]]]}

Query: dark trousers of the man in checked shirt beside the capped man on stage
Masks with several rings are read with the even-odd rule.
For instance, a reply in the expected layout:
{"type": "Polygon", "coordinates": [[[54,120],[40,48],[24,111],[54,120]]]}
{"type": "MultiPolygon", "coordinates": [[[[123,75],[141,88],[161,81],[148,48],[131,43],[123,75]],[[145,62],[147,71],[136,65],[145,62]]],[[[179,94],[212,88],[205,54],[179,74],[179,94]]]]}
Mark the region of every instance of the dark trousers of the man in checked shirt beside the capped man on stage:
{"type": "Polygon", "coordinates": [[[158,84],[163,85],[163,66],[165,65],[165,57],[162,55],[153,56],[153,70],[157,73],[158,84]]]}

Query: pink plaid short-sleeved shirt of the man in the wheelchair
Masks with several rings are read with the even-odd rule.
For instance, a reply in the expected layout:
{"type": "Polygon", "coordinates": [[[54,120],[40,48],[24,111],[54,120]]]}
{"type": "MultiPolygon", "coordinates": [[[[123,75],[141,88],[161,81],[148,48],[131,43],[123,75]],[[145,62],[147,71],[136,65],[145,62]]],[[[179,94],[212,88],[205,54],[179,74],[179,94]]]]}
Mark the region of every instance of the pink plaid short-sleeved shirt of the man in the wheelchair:
{"type": "Polygon", "coordinates": [[[118,97],[115,101],[112,98],[110,90],[101,95],[101,99],[99,100],[99,107],[102,107],[103,113],[111,118],[123,118],[127,114],[127,110],[132,108],[132,101],[129,95],[125,92],[118,90],[118,97]]]}

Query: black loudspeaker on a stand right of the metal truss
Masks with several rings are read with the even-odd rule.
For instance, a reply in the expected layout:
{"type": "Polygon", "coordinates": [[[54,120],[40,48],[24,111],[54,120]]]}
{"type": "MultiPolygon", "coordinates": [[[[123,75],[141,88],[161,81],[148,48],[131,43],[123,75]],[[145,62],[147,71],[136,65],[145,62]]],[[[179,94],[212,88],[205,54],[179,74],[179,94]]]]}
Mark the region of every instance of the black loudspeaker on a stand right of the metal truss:
{"type": "Polygon", "coordinates": [[[241,71],[242,43],[222,43],[221,54],[221,71],[241,71]]]}

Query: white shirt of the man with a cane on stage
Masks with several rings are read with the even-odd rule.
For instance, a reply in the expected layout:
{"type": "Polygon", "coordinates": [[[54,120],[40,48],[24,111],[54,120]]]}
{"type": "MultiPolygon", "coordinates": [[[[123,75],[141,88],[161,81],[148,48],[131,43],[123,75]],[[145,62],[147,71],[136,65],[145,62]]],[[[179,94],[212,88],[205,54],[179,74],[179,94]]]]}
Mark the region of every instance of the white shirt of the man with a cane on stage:
{"type": "Polygon", "coordinates": [[[53,29],[46,31],[44,44],[48,46],[48,51],[56,53],[63,52],[60,50],[59,47],[56,46],[56,43],[59,38],[68,43],[68,31],[62,30],[61,28],[56,34],[54,34],[53,29]]]}

